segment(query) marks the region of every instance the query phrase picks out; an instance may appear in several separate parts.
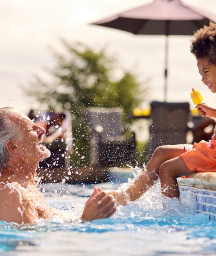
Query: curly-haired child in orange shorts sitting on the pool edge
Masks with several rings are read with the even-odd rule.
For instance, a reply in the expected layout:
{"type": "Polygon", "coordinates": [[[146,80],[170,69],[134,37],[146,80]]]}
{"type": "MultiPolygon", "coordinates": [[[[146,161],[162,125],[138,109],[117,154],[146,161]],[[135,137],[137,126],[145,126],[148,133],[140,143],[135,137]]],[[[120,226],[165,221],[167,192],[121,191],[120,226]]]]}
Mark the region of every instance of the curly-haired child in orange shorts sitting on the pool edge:
{"type": "MultiPolygon", "coordinates": [[[[191,52],[195,55],[202,82],[216,93],[216,24],[210,22],[194,34],[191,52]]],[[[202,103],[196,106],[201,116],[215,117],[216,109],[202,103]]],[[[148,164],[126,191],[111,190],[117,204],[142,196],[160,178],[162,194],[179,198],[176,178],[194,172],[216,172],[216,127],[211,142],[158,147],[148,164]]]]}

